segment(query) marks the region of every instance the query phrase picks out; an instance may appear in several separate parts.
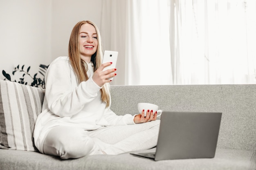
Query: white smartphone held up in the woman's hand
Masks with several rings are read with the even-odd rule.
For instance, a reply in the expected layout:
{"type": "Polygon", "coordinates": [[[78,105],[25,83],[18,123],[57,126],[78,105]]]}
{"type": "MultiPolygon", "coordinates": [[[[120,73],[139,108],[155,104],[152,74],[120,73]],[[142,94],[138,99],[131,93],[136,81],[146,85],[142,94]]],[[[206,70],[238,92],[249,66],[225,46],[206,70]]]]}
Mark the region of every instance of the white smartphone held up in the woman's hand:
{"type": "MultiPolygon", "coordinates": [[[[116,68],[116,64],[117,64],[117,56],[118,56],[118,52],[117,51],[104,51],[104,55],[103,55],[103,60],[102,60],[102,64],[106,63],[106,62],[112,62],[112,64],[110,66],[106,66],[103,71],[111,69],[111,68],[116,68]]],[[[114,77],[109,78],[109,80],[112,80],[114,77]]]]}

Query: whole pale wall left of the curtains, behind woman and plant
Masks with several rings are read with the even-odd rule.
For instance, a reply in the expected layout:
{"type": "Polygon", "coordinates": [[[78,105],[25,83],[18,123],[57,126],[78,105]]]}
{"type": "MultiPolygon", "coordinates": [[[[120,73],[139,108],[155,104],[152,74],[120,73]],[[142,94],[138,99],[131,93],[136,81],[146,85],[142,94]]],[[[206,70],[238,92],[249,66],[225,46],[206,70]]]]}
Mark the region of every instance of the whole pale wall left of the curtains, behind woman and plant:
{"type": "MultiPolygon", "coordinates": [[[[91,20],[99,28],[102,0],[0,0],[0,79],[18,65],[48,65],[67,55],[74,25],[91,20]]],[[[13,77],[14,78],[14,77],[13,77]]]]}

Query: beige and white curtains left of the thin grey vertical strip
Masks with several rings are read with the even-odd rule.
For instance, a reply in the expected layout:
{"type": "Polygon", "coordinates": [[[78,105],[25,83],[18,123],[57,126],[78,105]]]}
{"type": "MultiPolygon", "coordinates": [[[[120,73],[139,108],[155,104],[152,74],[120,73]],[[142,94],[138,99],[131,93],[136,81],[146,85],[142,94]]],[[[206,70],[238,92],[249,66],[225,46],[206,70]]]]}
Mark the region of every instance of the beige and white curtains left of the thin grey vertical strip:
{"type": "Polygon", "coordinates": [[[172,84],[167,1],[103,0],[102,9],[104,49],[119,51],[112,84],[172,84]]]}

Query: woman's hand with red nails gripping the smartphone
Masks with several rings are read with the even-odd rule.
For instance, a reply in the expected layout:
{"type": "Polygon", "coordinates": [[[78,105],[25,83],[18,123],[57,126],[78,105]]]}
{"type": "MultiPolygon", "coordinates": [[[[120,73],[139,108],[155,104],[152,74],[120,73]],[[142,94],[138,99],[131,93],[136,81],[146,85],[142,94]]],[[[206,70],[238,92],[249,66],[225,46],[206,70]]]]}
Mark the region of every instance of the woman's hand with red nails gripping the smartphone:
{"type": "Polygon", "coordinates": [[[116,68],[111,68],[103,71],[106,66],[110,66],[111,64],[111,62],[104,63],[93,73],[92,79],[98,86],[101,87],[105,83],[111,82],[109,78],[115,77],[117,75],[116,73],[114,73],[117,70],[116,68]]]}

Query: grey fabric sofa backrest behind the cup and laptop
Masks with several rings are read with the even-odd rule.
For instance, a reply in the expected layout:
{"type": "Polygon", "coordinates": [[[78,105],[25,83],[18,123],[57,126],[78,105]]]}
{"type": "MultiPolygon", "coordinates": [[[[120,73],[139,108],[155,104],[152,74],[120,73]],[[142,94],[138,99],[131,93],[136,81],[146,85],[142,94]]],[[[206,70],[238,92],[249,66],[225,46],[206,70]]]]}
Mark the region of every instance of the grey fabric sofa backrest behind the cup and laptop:
{"type": "Polygon", "coordinates": [[[111,109],[138,114],[137,103],[168,111],[222,112],[218,148],[256,150],[256,84],[111,86],[111,109]]]}

